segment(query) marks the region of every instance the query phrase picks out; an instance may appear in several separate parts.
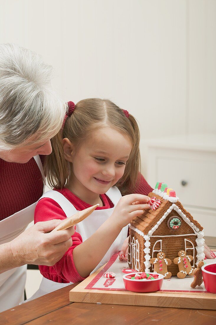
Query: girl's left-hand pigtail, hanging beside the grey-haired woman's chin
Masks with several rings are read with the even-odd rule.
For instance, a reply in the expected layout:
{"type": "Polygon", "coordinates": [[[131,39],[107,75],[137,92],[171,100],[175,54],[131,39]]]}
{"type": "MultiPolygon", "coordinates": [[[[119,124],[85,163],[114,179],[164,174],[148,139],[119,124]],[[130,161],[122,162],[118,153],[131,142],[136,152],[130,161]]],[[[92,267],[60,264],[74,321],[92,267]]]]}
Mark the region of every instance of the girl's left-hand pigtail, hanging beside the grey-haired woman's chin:
{"type": "Polygon", "coordinates": [[[51,139],[52,153],[45,158],[44,172],[51,187],[62,188],[70,174],[69,162],[64,158],[62,131],[51,139]]]}

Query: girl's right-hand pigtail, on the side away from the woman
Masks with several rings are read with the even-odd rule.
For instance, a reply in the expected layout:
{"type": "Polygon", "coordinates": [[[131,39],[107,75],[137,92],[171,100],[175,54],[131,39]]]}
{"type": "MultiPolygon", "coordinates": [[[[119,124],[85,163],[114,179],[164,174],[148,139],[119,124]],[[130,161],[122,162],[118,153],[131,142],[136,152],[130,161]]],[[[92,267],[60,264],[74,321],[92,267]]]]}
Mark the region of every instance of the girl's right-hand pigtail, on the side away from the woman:
{"type": "Polygon", "coordinates": [[[132,143],[132,152],[130,158],[128,159],[125,167],[125,172],[120,181],[116,184],[122,195],[127,195],[134,193],[137,184],[140,182],[140,167],[141,167],[141,158],[140,158],[140,132],[137,122],[133,115],[128,116],[133,127],[133,143],[132,143]]]}

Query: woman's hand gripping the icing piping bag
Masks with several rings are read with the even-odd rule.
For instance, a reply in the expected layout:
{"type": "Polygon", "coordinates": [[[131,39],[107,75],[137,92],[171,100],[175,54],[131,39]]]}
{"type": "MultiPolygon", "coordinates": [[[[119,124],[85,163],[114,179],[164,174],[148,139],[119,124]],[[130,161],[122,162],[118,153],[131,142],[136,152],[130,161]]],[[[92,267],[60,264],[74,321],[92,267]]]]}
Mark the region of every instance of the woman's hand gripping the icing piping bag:
{"type": "Polygon", "coordinates": [[[10,243],[10,250],[17,264],[52,266],[72,245],[74,227],[52,231],[62,220],[37,222],[10,243]]]}

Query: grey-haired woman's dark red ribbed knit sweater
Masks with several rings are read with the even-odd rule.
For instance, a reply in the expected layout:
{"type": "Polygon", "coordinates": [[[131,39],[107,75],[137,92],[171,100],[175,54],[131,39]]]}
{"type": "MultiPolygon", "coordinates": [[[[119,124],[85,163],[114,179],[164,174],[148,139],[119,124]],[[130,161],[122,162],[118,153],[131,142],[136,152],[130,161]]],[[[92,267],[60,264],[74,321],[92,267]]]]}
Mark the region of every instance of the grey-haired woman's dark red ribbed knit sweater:
{"type": "MultiPolygon", "coordinates": [[[[141,176],[134,193],[148,195],[151,191],[141,176]]],[[[0,220],[36,202],[42,194],[42,175],[34,158],[24,164],[0,159],[0,220]]]]}

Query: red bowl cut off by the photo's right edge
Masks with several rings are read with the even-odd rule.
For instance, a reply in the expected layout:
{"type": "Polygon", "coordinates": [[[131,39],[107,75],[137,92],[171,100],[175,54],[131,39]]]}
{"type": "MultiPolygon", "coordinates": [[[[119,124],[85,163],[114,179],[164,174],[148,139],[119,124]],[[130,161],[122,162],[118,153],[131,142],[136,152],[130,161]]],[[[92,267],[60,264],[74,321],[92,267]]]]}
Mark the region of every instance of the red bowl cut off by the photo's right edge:
{"type": "Polygon", "coordinates": [[[203,265],[201,269],[206,290],[216,293],[216,263],[203,265]]]}

